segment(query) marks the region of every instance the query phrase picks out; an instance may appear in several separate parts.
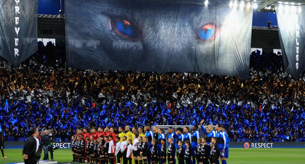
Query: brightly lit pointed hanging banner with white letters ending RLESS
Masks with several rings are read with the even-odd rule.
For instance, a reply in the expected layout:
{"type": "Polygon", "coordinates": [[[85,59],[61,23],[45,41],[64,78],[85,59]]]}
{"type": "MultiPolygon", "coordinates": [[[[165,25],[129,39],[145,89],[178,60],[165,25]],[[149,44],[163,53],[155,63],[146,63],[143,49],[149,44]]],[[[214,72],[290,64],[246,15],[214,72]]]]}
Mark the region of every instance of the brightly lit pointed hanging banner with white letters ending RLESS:
{"type": "Polygon", "coordinates": [[[275,3],[284,68],[294,79],[305,71],[305,5],[275,3]]]}

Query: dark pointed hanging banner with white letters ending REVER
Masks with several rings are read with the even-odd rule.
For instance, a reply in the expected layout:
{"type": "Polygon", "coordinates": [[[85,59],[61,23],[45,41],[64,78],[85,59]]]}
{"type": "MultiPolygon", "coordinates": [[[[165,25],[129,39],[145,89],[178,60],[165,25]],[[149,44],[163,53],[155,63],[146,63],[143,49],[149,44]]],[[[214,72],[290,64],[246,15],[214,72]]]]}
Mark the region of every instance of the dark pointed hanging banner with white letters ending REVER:
{"type": "Polygon", "coordinates": [[[0,0],[0,55],[18,66],[37,51],[38,0],[0,0]]]}

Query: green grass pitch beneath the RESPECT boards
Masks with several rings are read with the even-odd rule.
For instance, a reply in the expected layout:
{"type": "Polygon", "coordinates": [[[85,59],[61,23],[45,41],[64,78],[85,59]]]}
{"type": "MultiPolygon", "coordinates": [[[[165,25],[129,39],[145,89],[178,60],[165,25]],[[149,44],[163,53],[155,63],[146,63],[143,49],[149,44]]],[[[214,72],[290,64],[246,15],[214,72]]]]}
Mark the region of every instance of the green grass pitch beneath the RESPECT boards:
{"type": "MultiPolygon", "coordinates": [[[[7,159],[0,164],[22,162],[21,149],[4,149],[7,159]]],[[[42,155],[43,156],[43,155],[42,155]]],[[[72,153],[67,149],[55,150],[54,159],[59,163],[71,162],[72,153]]],[[[178,163],[178,162],[177,162],[178,163]]],[[[305,163],[305,148],[230,148],[228,164],[298,164],[305,163]]]]}

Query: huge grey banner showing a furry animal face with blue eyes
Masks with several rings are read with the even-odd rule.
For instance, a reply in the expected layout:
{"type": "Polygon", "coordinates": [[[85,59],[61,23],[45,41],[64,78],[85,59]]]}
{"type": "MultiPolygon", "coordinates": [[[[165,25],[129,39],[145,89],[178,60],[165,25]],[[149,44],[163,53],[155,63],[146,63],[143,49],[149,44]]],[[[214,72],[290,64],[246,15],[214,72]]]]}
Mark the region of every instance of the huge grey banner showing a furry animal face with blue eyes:
{"type": "Polygon", "coordinates": [[[69,66],[248,77],[253,2],[66,0],[69,66]]]}

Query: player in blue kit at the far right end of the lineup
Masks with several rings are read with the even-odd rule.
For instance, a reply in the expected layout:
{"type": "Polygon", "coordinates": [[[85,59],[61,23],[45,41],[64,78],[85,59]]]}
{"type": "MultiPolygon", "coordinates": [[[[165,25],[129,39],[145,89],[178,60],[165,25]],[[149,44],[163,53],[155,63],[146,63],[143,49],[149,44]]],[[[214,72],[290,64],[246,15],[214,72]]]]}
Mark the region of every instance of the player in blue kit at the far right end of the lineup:
{"type": "Polygon", "coordinates": [[[220,137],[218,150],[220,152],[220,158],[221,158],[221,163],[222,164],[227,164],[226,159],[229,157],[229,142],[230,142],[230,139],[228,137],[226,129],[227,128],[226,128],[225,125],[220,126],[221,137],[220,137]]]}

